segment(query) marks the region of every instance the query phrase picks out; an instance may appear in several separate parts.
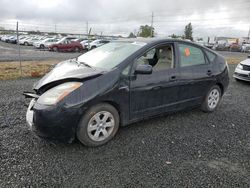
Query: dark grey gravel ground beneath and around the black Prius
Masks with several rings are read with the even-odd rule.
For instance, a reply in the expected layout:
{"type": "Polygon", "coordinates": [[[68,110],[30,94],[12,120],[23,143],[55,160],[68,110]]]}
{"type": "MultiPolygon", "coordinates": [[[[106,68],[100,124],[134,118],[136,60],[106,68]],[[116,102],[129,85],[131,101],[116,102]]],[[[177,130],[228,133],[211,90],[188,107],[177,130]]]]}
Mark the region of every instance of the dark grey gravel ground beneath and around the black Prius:
{"type": "Polygon", "coordinates": [[[0,82],[0,187],[250,187],[250,84],[231,79],[214,113],[142,121],[86,148],[28,130],[21,92],[34,82],[0,82]]]}

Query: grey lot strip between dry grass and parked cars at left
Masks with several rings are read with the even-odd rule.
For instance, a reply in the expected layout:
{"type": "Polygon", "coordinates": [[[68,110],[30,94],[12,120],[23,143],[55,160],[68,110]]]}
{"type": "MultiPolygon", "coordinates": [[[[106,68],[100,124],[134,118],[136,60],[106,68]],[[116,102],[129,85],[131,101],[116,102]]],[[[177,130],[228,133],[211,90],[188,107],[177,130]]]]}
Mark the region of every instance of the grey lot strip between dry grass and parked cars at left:
{"type": "MultiPolygon", "coordinates": [[[[21,60],[22,61],[34,61],[34,60],[48,60],[58,59],[66,60],[77,57],[80,53],[61,53],[61,52],[49,52],[44,50],[35,49],[33,46],[20,45],[21,60]]],[[[18,46],[15,44],[9,44],[0,41],[0,62],[2,61],[18,61],[18,46]]]]}

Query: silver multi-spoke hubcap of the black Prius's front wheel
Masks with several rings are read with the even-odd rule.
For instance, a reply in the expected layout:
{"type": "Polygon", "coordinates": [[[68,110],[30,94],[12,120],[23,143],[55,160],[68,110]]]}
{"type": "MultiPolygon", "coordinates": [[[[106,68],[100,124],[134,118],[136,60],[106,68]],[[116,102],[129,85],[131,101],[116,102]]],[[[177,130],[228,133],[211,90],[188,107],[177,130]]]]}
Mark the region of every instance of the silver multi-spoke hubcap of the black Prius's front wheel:
{"type": "Polygon", "coordinates": [[[88,136],[93,141],[103,141],[112,134],[114,126],[114,116],[110,112],[98,112],[89,120],[88,136]]]}

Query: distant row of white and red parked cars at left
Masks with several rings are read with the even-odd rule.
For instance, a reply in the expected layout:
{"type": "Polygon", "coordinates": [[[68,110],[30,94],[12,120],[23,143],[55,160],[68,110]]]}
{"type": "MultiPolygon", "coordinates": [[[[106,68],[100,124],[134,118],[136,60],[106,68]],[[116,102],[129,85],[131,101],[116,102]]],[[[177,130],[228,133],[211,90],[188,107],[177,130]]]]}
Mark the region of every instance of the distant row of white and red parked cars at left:
{"type": "MultiPolygon", "coordinates": [[[[16,35],[2,35],[0,40],[7,43],[17,44],[16,35]]],[[[109,43],[107,39],[87,39],[77,37],[57,37],[57,36],[31,36],[20,35],[19,44],[34,46],[36,49],[50,50],[54,52],[81,52],[92,50],[103,44],[109,43]]]]}

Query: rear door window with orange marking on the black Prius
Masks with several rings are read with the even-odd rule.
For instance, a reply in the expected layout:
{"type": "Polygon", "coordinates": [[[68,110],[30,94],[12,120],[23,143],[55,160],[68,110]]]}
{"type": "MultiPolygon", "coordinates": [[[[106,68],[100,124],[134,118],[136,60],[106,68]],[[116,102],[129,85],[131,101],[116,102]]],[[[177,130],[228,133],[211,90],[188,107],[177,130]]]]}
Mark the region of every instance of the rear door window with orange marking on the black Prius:
{"type": "Polygon", "coordinates": [[[203,51],[195,46],[179,44],[180,66],[194,66],[206,64],[203,51]]]}

